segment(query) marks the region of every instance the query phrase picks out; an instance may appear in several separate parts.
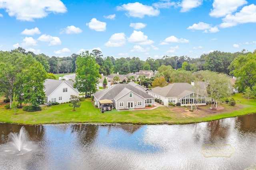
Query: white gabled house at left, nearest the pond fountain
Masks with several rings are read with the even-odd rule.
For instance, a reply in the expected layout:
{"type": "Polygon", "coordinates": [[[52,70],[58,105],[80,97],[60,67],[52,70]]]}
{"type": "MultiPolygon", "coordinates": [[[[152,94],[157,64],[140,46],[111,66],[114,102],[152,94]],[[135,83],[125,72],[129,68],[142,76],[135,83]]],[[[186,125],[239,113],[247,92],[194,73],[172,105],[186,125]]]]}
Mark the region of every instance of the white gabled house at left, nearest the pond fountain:
{"type": "Polygon", "coordinates": [[[70,95],[79,96],[78,89],[73,85],[72,80],[46,79],[44,81],[45,103],[68,102],[70,95]]]}

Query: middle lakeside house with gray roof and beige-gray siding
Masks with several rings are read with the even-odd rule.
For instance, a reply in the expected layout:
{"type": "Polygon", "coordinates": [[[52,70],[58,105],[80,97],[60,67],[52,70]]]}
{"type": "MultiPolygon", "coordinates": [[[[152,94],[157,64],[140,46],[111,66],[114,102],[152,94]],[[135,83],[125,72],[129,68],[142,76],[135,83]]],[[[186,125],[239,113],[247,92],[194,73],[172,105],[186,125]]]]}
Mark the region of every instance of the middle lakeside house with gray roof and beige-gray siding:
{"type": "Polygon", "coordinates": [[[113,107],[120,109],[145,108],[147,105],[154,105],[154,98],[146,89],[140,85],[130,82],[128,84],[116,84],[108,89],[94,93],[95,105],[100,106],[100,100],[108,99],[113,102],[113,107]]]}

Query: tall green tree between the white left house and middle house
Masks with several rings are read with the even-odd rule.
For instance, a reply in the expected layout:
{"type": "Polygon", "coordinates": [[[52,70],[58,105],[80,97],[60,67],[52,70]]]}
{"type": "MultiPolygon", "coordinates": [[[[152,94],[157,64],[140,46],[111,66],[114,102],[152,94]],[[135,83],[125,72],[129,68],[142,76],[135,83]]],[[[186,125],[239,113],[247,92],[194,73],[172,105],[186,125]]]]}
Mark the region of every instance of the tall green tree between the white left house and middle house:
{"type": "Polygon", "coordinates": [[[101,77],[99,73],[100,65],[95,61],[95,57],[89,54],[88,51],[81,53],[76,58],[76,79],[74,87],[80,92],[84,92],[86,97],[88,93],[91,95],[97,91],[96,85],[98,78],[101,77]]]}

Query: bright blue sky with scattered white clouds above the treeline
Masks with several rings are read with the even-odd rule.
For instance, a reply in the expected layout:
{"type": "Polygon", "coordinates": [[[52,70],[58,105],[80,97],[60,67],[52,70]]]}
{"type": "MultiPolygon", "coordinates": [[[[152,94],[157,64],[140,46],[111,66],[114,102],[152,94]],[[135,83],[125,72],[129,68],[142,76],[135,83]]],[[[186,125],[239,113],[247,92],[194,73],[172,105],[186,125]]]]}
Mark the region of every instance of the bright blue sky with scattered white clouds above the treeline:
{"type": "Polygon", "coordinates": [[[253,0],[0,0],[0,50],[198,58],[256,49],[253,0]]]}

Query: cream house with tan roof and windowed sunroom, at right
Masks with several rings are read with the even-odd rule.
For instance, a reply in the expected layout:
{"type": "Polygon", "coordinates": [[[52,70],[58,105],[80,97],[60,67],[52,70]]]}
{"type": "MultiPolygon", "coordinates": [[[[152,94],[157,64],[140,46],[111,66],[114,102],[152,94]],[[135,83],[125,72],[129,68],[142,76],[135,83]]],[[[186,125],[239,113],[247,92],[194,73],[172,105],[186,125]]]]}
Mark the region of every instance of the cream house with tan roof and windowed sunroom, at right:
{"type": "Polygon", "coordinates": [[[165,106],[170,102],[180,103],[181,106],[206,105],[206,96],[196,94],[194,86],[189,83],[173,83],[165,87],[155,87],[148,91],[148,94],[162,100],[165,106]]]}

